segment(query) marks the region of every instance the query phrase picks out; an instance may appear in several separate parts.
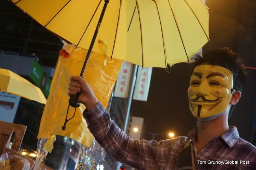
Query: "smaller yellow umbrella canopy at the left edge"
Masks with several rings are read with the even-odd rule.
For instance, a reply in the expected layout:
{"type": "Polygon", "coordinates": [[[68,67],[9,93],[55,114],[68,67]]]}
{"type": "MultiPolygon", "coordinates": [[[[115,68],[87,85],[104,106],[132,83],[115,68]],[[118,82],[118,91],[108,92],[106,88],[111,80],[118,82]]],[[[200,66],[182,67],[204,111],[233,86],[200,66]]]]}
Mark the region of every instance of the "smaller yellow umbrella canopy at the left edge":
{"type": "Polygon", "coordinates": [[[0,68],[0,90],[39,103],[46,103],[45,96],[37,86],[8,69],[0,68]]]}

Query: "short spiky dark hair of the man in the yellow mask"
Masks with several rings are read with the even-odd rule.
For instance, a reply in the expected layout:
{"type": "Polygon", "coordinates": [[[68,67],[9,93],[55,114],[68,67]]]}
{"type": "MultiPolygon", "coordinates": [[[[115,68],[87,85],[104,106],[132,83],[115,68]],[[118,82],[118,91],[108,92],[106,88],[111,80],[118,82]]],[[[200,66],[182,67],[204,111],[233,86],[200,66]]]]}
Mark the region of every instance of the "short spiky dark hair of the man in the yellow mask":
{"type": "MultiPolygon", "coordinates": [[[[192,59],[193,70],[195,67],[208,63],[210,65],[221,66],[232,71],[233,74],[233,89],[241,91],[245,88],[247,71],[245,70],[245,62],[235,51],[230,48],[218,48],[203,54],[203,57],[196,55],[192,59]]],[[[231,106],[228,119],[234,110],[235,105],[231,106]]]]}

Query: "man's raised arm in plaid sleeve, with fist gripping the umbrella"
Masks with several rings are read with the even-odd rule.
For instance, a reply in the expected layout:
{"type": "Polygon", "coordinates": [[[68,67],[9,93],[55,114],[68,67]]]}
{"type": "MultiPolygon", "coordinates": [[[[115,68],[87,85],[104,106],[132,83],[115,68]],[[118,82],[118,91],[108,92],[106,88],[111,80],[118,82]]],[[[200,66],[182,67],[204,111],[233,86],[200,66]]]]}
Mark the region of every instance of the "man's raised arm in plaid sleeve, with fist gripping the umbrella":
{"type": "Polygon", "coordinates": [[[109,113],[104,110],[91,87],[82,77],[72,76],[70,81],[68,94],[75,95],[80,92],[78,102],[82,102],[87,107],[83,116],[87,120],[88,128],[109,155],[137,169],[164,168],[169,161],[173,143],[178,139],[160,142],[131,139],[110,119],[109,113]]]}

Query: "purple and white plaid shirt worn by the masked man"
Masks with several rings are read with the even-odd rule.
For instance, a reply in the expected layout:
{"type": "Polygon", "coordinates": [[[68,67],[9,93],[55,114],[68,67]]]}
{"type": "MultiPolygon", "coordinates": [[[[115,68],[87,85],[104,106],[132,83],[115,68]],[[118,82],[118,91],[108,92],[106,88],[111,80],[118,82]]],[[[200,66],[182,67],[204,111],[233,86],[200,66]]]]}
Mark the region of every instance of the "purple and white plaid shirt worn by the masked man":
{"type": "Polygon", "coordinates": [[[228,132],[213,138],[198,153],[195,145],[197,128],[191,130],[188,137],[159,142],[134,140],[110,119],[100,103],[91,112],[85,110],[83,117],[96,141],[109,155],[138,170],[176,170],[179,153],[187,138],[193,143],[197,170],[256,170],[256,147],[241,139],[236,127],[230,126],[228,132]]]}

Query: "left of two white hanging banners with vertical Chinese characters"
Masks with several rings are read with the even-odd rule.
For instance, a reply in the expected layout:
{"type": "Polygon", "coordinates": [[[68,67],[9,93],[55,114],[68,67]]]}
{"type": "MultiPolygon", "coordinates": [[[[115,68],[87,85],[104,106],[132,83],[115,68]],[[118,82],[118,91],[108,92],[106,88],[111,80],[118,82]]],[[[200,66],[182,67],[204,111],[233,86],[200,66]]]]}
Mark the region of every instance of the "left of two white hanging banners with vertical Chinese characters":
{"type": "Polygon", "coordinates": [[[132,75],[132,63],[123,61],[122,66],[115,83],[114,97],[128,97],[130,80],[132,75]]]}

